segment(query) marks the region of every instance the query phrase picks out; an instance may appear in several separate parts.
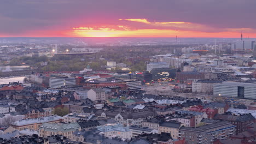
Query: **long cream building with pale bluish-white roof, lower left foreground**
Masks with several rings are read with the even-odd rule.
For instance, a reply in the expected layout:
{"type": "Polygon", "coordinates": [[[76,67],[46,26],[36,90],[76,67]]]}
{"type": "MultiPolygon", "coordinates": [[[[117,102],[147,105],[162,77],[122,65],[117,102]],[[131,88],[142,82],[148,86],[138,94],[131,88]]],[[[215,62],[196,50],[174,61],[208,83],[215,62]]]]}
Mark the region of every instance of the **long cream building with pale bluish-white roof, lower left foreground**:
{"type": "Polygon", "coordinates": [[[32,129],[38,130],[40,126],[44,123],[60,123],[63,117],[60,116],[49,116],[42,118],[32,118],[32,119],[21,119],[20,121],[14,122],[11,126],[18,130],[32,129]]]}

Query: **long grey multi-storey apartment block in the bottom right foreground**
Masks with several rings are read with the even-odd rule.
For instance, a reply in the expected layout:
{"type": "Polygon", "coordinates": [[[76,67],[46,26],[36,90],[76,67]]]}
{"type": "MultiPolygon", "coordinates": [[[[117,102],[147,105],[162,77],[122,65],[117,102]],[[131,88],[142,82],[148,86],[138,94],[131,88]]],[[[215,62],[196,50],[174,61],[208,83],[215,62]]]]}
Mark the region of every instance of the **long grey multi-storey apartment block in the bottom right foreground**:
{"type": "Polygon", "coordinates": [[[216,122],[201,127],[179,128],[179,138],[188,144],[212,143],[218,139],[228,139],[235,134],[235,125],[230,122],[216,122]]]}

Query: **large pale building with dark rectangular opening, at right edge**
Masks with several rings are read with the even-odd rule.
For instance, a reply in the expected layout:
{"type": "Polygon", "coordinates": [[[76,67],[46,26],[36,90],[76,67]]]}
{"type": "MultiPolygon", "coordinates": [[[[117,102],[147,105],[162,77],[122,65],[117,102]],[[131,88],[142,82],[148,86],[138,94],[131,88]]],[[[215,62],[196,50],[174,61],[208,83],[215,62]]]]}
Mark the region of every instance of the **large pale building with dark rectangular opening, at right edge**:
{"type": "Polygon", "coordinates": [[[256,83],[222,82],[213,86],[213,95],[221,97],[256,99],[256,83]]]}

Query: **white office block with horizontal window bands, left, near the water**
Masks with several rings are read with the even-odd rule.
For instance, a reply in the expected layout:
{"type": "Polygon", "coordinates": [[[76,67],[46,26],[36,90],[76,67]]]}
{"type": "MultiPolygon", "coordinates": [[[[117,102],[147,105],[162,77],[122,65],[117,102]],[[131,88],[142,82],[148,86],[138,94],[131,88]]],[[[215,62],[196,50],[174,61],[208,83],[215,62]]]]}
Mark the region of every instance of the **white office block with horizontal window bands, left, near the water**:
{"type": "Polygon", "coordinates": [[[75,78],[51,77],[50,88],[61,88],[62,86],[75,86],[75,78]]]}

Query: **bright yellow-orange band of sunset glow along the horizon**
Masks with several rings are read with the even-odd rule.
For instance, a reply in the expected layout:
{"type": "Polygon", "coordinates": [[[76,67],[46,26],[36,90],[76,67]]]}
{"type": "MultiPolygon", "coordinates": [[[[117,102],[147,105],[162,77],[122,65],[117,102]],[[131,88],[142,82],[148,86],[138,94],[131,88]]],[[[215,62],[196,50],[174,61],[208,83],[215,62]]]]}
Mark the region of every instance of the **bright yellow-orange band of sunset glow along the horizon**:
{"type": "MultiPolygon", "coordinates": [[[[137,29],[137,30],[83,30],[74,29],[73,37],[176,37],[188,38],[188,37],[198,37],[198,38],[237,38],[241,33],[238,32],[216,32],[207,33],[199,31],[175,31],[172,29],[137,29]]],[[[256,33],[244,33],[247,37],[255,38],[256,33]]]]}

